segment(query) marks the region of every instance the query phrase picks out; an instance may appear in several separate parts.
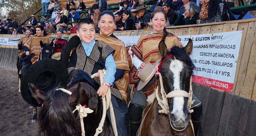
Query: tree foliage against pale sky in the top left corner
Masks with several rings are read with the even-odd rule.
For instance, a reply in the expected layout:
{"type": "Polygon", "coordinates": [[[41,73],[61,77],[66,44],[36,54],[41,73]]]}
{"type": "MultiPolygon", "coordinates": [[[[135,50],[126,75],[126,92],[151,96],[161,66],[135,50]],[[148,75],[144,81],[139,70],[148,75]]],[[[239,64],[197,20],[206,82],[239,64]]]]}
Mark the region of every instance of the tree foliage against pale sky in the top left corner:
{"type": "Polygon", "coordinates": [[[0,0],[0,18],[16,17],[17,21],[21,23],[41,7],[41,0],[0,0]],[[2,14],[3,10],[6,11],[6,15],[2,14]]]}

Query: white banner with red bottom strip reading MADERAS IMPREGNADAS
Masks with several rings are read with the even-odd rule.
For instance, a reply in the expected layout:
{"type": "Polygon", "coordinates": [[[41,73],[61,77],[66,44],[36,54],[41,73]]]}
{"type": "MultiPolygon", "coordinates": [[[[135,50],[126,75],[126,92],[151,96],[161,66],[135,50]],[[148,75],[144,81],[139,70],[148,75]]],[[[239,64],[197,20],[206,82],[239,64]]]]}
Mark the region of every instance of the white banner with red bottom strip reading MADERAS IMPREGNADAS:
{"type": "MultiPolygon", "coordinates": [[[[125,45],[136,44],[139,37],[117,36],[125,45]]],[[[178,37],[184,46],[193,40],[193,82],[232,92],[242,31],[178,37]]]]}

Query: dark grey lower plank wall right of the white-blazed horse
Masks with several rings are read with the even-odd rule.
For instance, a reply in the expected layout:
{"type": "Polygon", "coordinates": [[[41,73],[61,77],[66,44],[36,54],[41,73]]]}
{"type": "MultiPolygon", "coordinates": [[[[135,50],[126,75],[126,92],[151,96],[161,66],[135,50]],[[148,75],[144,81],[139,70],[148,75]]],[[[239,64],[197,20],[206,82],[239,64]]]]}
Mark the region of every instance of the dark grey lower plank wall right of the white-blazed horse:
{"type": "Polygon", "coordinates": [[[203,136],[255,136],[256,101],[193,83],[203,104],[203,136]]]}

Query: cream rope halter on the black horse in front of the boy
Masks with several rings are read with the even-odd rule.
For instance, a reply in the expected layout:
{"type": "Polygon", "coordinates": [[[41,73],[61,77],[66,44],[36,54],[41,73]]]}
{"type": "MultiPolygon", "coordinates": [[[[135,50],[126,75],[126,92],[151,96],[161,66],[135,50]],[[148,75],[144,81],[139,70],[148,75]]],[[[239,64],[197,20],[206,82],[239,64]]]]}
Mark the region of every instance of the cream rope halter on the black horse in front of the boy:
{"type": "MultiPolygon", "coordinates": [[[[71,95],[72,92],[64,89],[64,88],[58,88],[56,90],[61,90],[63,92],[66,92],[67,94],[71,95]]],[[[90,108],[86,108],[85,106],[82,106],[81,104],[78,104],[75,106],[76,108],[74,109],[74,111],[72,113],[74,113],[76,110],[79,113],[79,117],[80,117],[80,122],[81,122],[81,130],[82,130],[82,136],[85,136],[85,131],[84,131],[84,120],[83,118],[87,116],[87,113],[93,113],[93,110],[91,110],[90,108]]]]}

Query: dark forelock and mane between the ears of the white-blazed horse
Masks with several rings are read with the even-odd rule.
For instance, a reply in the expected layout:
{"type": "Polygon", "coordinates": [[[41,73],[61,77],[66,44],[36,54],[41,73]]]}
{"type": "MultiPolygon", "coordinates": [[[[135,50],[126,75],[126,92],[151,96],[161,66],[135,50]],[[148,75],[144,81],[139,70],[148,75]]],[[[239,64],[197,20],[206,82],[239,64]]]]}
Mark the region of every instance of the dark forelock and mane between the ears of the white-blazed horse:
{"type": "MultiPolygon", "coordinates": [[[[177,60],[181,60],[181,61],[185,62],[188,66],[190,66],[190,68],[192,70],[194,69],[195,65],[193,64],[191,58],[189,57],[189,55],[186,53],[186,51],[183,48],[180,48],[178,46],[173,46],[171,48],[171,50],[167,53],[166,56],[168,56],[170,54],[174,55],[177,60]]],[[[162,57],[162,60],[166,56],[162,57]]]]}

